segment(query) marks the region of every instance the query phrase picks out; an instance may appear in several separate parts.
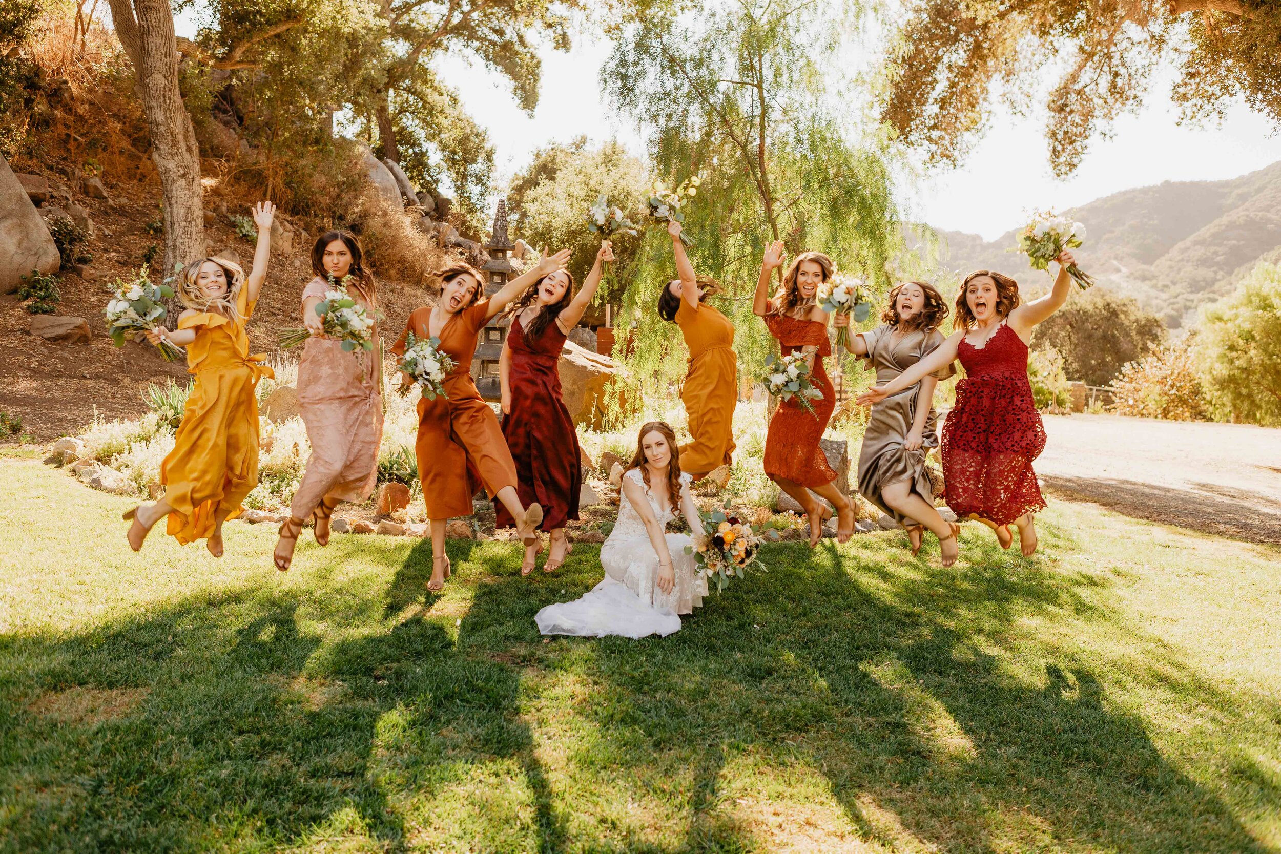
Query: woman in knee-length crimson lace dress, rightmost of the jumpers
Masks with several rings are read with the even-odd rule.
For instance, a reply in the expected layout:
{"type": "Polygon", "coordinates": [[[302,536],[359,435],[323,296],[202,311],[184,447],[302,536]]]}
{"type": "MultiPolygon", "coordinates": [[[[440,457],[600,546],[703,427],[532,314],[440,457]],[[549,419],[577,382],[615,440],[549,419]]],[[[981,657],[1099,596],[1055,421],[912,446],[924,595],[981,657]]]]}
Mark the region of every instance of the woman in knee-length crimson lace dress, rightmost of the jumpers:
{"type": "Polygon", "coordinates": [[[860,403],[877,403],[959,357],[966,378],[957,383],[956,406],[943,425],[948,507],[993,529],[1002,548],[1013,542],[1015,525],[1024,554],[1036,551],[1032,515],[1045,508],[1032,471],[1032,460],[1045,448],[1045,428],[1027,379],[1027,342],[1072,288],[1072,254],[1054,260],[1054,288],[1024,305],[1009,277],[990,270],[967,275],[957,294],[957,332],[898,379],[858,397],[860,403]]]}

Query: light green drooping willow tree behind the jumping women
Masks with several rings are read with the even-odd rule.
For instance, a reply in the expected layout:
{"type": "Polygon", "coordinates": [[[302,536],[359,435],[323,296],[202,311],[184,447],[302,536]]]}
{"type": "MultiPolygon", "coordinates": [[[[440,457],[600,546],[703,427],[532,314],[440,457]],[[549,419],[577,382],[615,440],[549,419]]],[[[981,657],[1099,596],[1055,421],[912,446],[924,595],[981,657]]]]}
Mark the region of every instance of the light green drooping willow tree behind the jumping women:
{"type": "MultiPolygon", "coordinates": [[[[657,173],[702,177],[687,210],[690,254],[721,282],[749,370],[769,346],[749,303],[767,243],[821,250],[877,286],[902,247],[883,151],[853,136],[849,92],[830,73],[856,12],[839,1],[726,0],[702,4],[697,17],[649,14],[621,31],[601,72],[612,101],[647,133],[657,173]]],[[[667,236],[652,230],[644,252],[648,273],[629,289],[624,319],[638,324],[642,370],[675,378],[683,362],[666,359],[673,337],[652,306],[674,275],[667,236]]]]}

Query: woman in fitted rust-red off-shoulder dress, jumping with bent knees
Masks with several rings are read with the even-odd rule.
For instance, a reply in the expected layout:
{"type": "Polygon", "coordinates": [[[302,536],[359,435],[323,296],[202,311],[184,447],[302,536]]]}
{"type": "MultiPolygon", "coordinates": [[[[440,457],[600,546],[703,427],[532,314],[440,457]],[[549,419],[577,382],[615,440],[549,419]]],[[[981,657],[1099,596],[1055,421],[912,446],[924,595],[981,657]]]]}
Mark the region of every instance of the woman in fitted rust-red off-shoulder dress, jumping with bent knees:
{"type": "Polygon", "coordinates": [[[822,357],[831,355],[828,341],[828,312],[819,307],[819,286],[831,278],[831,259],[822,252],[803,252],[792,261],[783,277],[783,287],[771,300],[770,277],[783,266],[783,242],[765,251],[761,278],[756,283],[752,311],[765,319],[770,334],[779,339],[783,355],[801,351],[810,365],[810,376],[822,398],[812,401],[813,414],[797,401],[781,403],[770,419],[765,437],[765,474],[779,488],[797,499],[810,517],[810,547],[822,536],[822,521],[831,517],[810,490],[833,503],[839,513],[836,542],[844,543],[854,533],[854,506],[836,488],[836,472],[819,447],[819,439],[836,408],[836,393],[824,370],[822,357]]]}

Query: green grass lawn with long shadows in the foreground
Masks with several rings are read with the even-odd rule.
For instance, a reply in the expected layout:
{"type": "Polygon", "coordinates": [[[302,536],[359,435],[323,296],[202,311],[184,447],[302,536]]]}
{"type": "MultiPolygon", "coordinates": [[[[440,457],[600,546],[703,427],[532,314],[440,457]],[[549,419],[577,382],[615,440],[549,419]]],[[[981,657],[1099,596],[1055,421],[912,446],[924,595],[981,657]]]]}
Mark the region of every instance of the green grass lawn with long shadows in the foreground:
{"type": "Polygon", "coordinates": [[[767,548],[666,639],[544,641],[579,545],[227,557],[0,460],[4,851],[1278,851],[1281,551],[1054,502],[767,548]]]}

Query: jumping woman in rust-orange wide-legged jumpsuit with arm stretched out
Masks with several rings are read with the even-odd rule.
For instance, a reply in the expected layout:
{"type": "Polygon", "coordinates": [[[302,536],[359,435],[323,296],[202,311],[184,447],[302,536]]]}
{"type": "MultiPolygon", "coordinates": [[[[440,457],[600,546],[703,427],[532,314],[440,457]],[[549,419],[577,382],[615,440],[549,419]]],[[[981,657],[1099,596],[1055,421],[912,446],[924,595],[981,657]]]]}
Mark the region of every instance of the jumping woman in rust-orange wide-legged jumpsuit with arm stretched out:
{"type": "MultiPolygon", "coordinates": [[[[423,502],[432,526],[432,579],[428,590],[439,590],[450,577],[445,553],[445,525],[455,516],[471,515],[471,495],[483,484],[491,498],[502,502],[516,521],[525,545],[538,540],[543,510],[537,503],[521,506],[516,493],[516,465],[502,438],[498,416],[480,397],[471,380],[471,356],[480,330],[491,318],[543,277],[569,261],[569,250],[543,256],[528,273],[509,282],[489,298],[482,298],[484,274],[470,264],[451,264],[441,271],[441,301],[436,307],[416,309],[392,348],[405,352],[409,333],[415,338],[439,338],[441,352],[453,359],[445,378],[447,398],[418,402],[419,476],[423,502]]],[[[407,379],[407,378],[406,378],[407,379]]]]}

